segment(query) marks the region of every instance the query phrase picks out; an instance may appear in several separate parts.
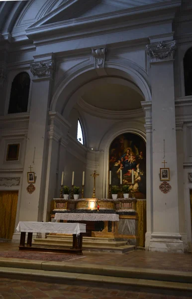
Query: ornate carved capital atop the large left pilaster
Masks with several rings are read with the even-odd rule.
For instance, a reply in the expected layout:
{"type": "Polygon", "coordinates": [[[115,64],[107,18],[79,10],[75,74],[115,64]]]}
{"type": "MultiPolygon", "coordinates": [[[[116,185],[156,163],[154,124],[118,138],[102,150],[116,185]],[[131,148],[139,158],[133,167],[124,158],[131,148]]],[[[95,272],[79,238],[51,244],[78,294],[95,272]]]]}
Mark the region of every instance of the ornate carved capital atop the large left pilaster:
{"type": "Polygon", "coordinates": [[[30,70],[33,76],[36,78],[52,77],[54,71],[54,63],[52,60],[46,62],[33,62],[30,65],[30,70]]]}

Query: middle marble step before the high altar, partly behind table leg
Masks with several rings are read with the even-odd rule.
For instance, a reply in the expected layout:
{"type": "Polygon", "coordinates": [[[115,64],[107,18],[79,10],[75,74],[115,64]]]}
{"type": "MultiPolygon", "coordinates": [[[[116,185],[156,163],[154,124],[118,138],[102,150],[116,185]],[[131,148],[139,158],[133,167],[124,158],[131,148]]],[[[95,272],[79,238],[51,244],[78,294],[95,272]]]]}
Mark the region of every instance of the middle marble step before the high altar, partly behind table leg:
{"type": "MultiPolygon", "coordinates": [[[[53,245],[68,245],[68,246],[72,246],[72,239],[48,239],[48,238],[45,238],[45,239],[39,239],[39,238],[34,238],[34,243],[35,244],[39,244],[39,243],[43,243],[43,244],[47,244],[47,243],[50,243],[50,244],[53,244],[53,245]]],[[[83,240],[83,247],[85,246],[97,246],[97,247],[119,247],[119,246],[123,246],[123,245],[126,245],[127,242],[126,241],[118,241],[118,242],[96,242],[96,241],[91,241],[91,240],[83,240]]]]}

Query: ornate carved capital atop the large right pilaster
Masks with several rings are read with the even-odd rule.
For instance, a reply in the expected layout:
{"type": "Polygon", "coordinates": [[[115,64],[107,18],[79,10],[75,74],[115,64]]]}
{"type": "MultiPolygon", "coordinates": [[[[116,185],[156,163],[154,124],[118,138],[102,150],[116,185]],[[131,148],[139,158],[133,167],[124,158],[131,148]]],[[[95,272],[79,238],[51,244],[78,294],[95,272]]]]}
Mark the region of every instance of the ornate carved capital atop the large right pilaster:
{"type": "Polygon", "coordinates": [[[173,59],[176,49],[176,41],[161,41],[158,44],[150,44],[146,46],[147,54],[151,58],[151,62],[158,62],[167,59],[173,59]]]}

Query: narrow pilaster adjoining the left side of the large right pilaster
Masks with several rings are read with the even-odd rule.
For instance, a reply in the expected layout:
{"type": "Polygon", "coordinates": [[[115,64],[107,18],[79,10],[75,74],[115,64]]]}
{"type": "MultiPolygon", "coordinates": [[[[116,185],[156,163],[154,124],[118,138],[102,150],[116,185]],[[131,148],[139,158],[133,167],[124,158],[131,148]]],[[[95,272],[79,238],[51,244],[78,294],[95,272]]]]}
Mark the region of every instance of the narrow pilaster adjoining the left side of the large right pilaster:
{"type": "Polygon", "coordinates": [[[145,248],[149,248],[151,234],[153,232],[153,175],[152,175],[152,103],[141,102],[145,112],[146,130],[146,209],[147,232],[145,234],[145,248]]]}

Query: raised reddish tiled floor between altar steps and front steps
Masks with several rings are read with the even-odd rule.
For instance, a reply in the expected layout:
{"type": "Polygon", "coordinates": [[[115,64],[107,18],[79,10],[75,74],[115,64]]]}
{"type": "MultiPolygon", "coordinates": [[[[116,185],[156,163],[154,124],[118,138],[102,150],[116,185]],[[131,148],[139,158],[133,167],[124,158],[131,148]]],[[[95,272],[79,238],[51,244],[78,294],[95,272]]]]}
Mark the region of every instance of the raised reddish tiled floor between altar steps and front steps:
{"type": "MultiPolygon", "coordinates": [[[[18,244],[0,243],[0,251],[18,250],[18,244]]],[[[159,253],[138,250],[125,254],[84,252],[78,264],[110,265],[133,268],[192,272],[192,254],[159,253]]],[[[68,263],[73,263],[68,261],[68,263]]]]}

